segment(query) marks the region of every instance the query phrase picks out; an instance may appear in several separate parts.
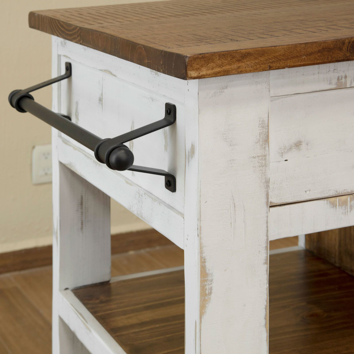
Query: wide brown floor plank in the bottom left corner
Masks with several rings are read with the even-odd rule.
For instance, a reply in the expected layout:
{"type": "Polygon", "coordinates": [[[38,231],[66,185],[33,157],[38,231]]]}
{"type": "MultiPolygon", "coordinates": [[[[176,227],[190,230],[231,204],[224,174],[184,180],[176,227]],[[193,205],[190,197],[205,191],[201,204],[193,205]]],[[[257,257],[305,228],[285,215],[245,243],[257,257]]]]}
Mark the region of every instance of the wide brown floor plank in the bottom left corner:
{"type": "Polygon", "coordinates": [[[0,277],[0,337],[12,354],[51,353],[51,325],[8,276],[0,277]]]}

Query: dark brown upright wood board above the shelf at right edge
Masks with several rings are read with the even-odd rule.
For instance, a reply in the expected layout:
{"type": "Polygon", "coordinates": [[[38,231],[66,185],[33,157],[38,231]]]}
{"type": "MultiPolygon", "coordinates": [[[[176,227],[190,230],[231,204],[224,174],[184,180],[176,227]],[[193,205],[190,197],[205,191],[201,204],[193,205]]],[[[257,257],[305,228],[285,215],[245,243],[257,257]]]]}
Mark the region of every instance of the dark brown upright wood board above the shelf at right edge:
{"type": "Polygon", "coordinates": [[[306,248],[354,275],[354,227],[306,235],[306,248]]]}

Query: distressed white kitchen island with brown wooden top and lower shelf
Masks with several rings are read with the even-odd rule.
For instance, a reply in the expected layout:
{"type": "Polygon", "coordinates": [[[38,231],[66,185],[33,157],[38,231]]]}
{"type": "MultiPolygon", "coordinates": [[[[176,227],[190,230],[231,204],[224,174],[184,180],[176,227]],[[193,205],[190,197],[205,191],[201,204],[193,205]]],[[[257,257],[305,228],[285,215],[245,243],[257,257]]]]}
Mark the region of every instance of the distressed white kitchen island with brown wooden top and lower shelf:
{"type": "MultiPolygon", "coordinates": [[[[72,120],[50,123],[67,133],[52,131],[53,353],[268,352],[269,240],[354,225],[353,15],[349,0],[29,14],[72,120]],[[184,270],[111,280],[110,198],[184,249],[184,270]],[[115,337],[83,304],[96,283],[120,291],[115,337]]],[[[10,101],[45,120],[30,91],[10,101]]]]}

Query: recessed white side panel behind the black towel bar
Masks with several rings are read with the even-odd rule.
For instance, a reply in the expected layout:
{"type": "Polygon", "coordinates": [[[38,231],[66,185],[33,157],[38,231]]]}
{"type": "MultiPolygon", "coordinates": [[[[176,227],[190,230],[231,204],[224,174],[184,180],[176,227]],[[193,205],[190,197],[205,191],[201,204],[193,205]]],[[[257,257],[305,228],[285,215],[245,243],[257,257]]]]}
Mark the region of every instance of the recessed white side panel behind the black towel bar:
{"type": "MultiPolygon", "coordinates": [[[[60,57],[61,68],[64,68],[65,61],[72,63],[73,74],[61,83],[61,113],[68,114],[73,122],[101,138],[112,138],[160,120],[164,117],[166,102],[176,105],[175,124],[126,143],[134,154],[135,165],[173,173],[176,192],[171,193],[164,187],[162,176],[131,171],[117,173],[183,213],[184,103],[119,78],[111,70],[100,70],[67,56],[60,57]]],[[[65,139],[93,155],[73,139],[65,139]]],[[[108,167],[102,164],[102,168],[108,167]]]]}

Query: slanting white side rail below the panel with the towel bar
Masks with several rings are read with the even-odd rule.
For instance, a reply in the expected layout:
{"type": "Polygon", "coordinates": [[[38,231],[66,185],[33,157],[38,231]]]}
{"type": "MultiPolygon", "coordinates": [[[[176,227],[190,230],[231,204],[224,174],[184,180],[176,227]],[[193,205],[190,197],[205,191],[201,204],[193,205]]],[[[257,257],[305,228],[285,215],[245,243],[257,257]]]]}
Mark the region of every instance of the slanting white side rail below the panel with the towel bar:
{"type": "MultiPolygon", "coordinates": [[[[101,189],[154,229],[183,248],[183,215],[117,171],[99,163],[91,154],[59,139],[59,161],[101,189]]],[[[163,183],[162,176],[156,176],[163,183]]],[[[173,194],[173,193],[171,193],[173,194]]]]}

